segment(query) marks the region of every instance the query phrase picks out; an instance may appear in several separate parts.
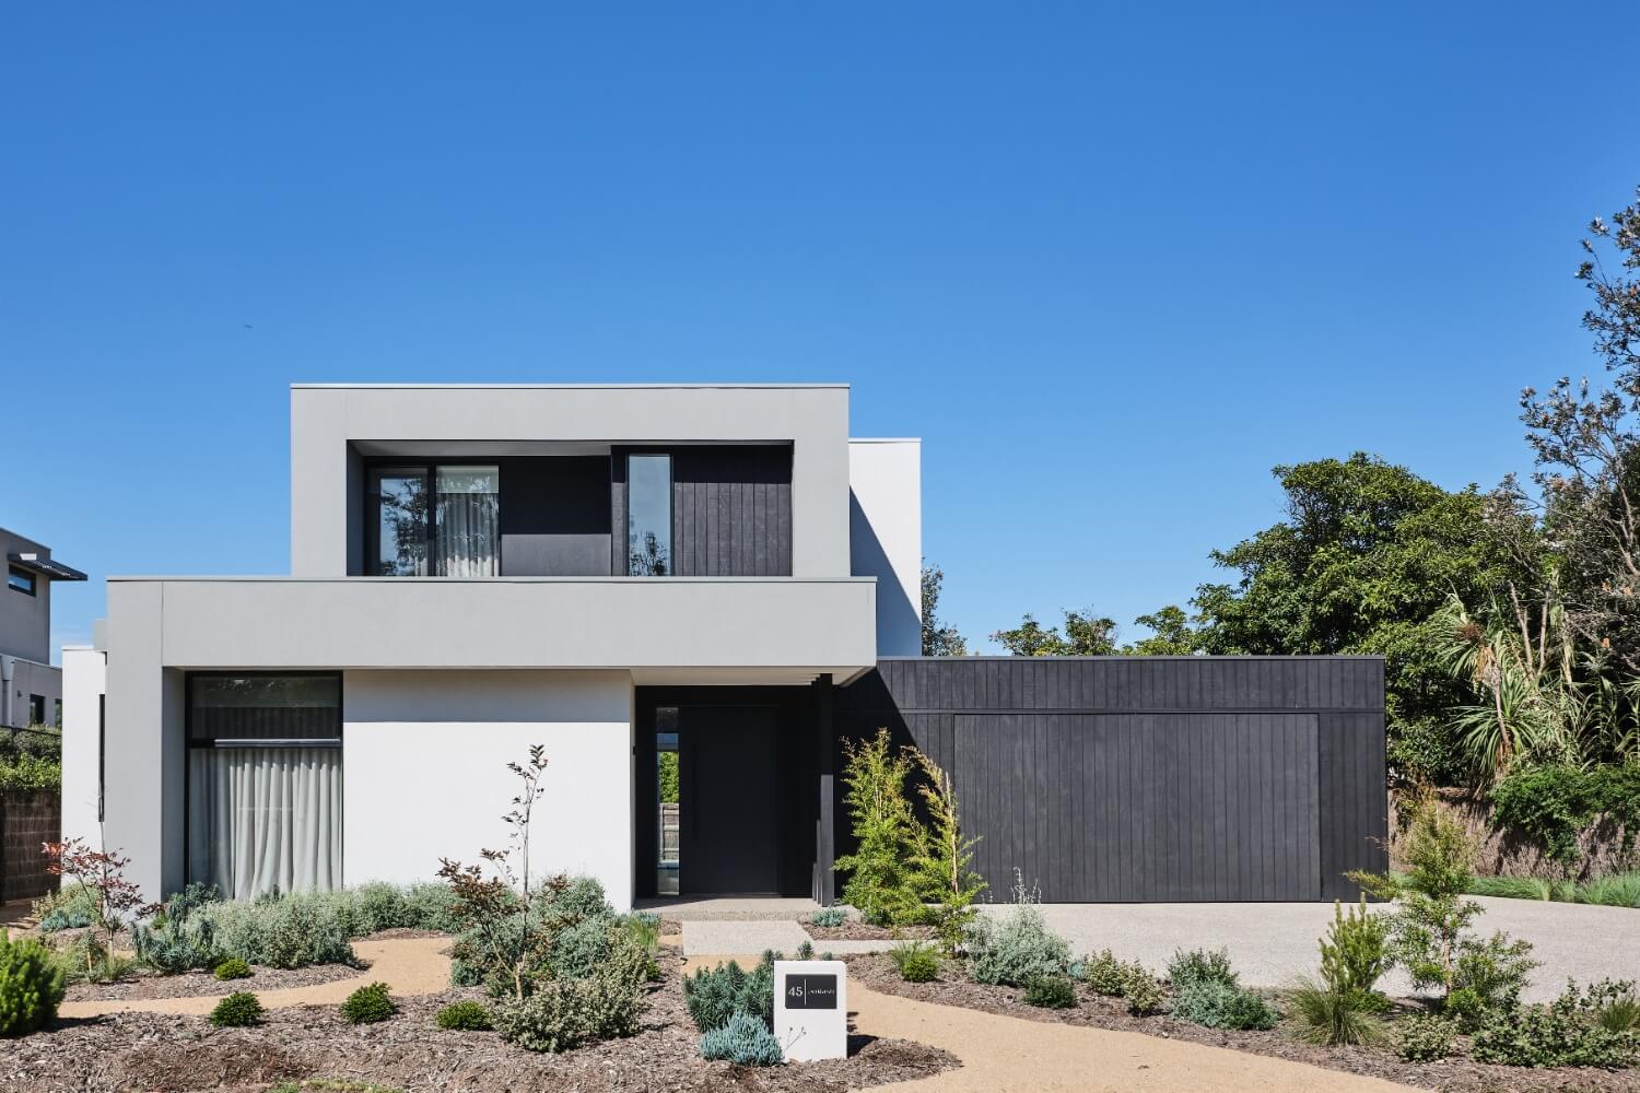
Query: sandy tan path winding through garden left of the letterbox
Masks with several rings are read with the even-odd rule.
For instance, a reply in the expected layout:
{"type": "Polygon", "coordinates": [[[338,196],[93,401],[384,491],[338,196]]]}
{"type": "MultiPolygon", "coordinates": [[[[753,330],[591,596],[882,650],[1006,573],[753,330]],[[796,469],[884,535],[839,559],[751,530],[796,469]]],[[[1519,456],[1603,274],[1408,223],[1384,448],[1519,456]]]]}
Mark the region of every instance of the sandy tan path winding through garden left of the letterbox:
{"type": "MultiPolygon", "coordinates": [[[[394,937],[389,941],[356,941],[353,950],[369,968],[353,978],[315,983],[313,986],[287,986],[284,990],[256,990],[256,978],[244,980],[241,990],[253,991],[266,1009],[285,1006],[338,1006],[348,995],[366,983],[382,982],[394,995],[436,995],[449,986],[448,937],[394,937]]],[[[221,995],[195,998],[126,998],[120,1001],[66,1001],[57,1009],[64,1018],[98,1018],[105,1013],[192,1013],[203,1014],[216,1008],[221,995]]]]}

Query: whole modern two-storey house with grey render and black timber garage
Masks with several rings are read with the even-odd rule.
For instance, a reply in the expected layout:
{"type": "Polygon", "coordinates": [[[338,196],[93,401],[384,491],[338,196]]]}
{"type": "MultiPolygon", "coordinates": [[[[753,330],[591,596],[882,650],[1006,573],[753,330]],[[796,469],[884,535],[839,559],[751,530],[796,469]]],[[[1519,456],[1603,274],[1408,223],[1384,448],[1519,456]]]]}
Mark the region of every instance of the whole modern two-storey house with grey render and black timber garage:
{"type": "Polygon", "coordinates": [[[999,891],[1319,900],[1383,867],[1379,659],[918,657],[920,442],[851,439],[848,400],[294,387],[290,575],[108,580],[64,655],[64,828],[100,816],[149,893],[426,880],[503,842],[543,744],[535,869],[830,901],[840,744],[889,726],[999,891]]]}

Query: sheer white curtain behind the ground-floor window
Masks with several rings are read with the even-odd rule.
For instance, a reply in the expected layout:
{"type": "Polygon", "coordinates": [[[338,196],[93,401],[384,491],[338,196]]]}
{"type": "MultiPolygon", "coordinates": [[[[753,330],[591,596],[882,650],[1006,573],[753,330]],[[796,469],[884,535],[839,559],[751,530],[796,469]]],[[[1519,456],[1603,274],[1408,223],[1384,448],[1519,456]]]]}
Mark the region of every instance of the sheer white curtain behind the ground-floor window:
{"type": "Polygon", "coordinates": [[[230,900],[341,887],[339,747],[189,751],[189,877],[230,900]]]}

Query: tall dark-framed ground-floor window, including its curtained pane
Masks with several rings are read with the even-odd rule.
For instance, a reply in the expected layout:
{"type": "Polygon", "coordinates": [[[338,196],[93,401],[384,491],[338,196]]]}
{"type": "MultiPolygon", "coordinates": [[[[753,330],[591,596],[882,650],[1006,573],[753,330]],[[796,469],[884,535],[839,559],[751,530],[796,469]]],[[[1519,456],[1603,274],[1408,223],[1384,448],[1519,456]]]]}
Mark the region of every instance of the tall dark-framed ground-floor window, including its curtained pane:
{"type": "Polygon", "coordinates": [[[341,887],[341,677],[189,677],[189,880],[341,887]]]}

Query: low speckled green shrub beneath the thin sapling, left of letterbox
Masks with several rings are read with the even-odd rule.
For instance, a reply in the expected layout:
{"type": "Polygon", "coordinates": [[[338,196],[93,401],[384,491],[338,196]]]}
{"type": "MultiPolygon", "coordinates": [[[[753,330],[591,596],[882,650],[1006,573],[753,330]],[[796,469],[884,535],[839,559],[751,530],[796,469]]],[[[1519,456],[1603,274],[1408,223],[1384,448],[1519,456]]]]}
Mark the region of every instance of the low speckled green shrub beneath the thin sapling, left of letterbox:
{"type": "Polygon", "coordinates": [[[625,946],[595,975],[538,983],[528,998],[495,1009],[495,1031],[508,1044],[533,1052],[564,1052],[631,1036],[643,1013],[645,960],[641,949],[625,946]]]}

